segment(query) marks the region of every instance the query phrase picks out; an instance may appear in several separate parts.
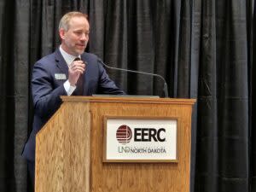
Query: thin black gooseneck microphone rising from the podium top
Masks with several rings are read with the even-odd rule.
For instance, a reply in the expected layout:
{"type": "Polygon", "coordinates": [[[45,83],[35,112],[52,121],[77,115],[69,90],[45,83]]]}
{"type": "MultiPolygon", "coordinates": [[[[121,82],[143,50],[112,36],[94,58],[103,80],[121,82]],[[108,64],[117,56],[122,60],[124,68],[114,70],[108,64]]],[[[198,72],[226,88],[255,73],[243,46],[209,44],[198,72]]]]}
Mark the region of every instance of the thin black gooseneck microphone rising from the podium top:
{"type": "Polygon", "coordinates": [[[146,73],[146,72],[134,71],[134,70],[125,69],[125,68],[118,68],[118,67],[109,67],[100,58],[98,58],[98,61],[101,62],[104,67],[107,67],[107,68],[110,68],[110,69],[113,69],[113,70],[118,70],[118,71],[127,72],[127,73],[140,73],[140,74],[150,75],[150,76],[154,76],[154,77],[158,77],[158,78],[162,79],[164,81],[163,90],[164,90],[166,98],[168,98],[168,86],[166,84],[166,79],[164,79],[160,74],[146,73]]]}

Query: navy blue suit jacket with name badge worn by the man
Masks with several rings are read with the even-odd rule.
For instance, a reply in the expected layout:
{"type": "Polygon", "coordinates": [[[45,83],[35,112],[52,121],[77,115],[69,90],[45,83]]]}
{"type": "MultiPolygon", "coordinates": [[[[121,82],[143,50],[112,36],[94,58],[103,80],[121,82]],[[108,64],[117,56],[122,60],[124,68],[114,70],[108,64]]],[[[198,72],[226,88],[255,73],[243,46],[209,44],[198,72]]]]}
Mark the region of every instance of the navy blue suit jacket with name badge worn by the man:
{"type": "MultiPolygon", "coordinates": [[[[84,53],[81,59],[86,61],[84,73],[84,96],[92,94],[124,95],[125,92],[108,78],[108,74],[93,54],[84,53]]],[[[64,82],[68,79],[67,63],[59,49],[37,61],[32,73],[32,97],[34,119],[32,133],[28,138],[22,156],[27,160],[35,160],[35,137],[37,132],[61,106],[60,96],[67,96],[64,82]],[[66,76],[66,79],[65,79],[66,76]]],[[[73,95],[78,95],[74,90],[73,95]]]]}

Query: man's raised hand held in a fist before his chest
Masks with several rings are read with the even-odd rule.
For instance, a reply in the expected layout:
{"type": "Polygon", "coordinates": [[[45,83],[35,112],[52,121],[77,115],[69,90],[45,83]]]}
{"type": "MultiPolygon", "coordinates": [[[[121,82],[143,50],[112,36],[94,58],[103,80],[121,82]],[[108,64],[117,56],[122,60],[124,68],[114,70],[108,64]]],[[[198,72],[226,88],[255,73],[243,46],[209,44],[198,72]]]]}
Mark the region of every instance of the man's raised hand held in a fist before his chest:
{"type": "Polygon", "coordinates": [[[84,61],[73,61],[72,67],[68,69],[68,81],[72,86],[75,86],[78,82],[79,76],[85,71],[84,61]]]}

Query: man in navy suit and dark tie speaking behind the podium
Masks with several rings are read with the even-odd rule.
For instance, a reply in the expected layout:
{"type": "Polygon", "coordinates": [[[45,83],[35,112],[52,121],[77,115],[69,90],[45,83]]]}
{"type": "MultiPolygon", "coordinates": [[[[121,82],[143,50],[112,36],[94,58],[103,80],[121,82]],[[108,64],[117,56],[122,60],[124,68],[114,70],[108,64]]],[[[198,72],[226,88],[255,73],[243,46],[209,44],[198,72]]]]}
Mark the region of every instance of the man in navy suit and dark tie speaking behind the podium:
{"type": "Polygon", "coordinates": [[[34,119],[32,133],[22,156],[34,183],[35,137],[51,115],[61,106],[60,96],[90,96],[92,94],[124,95],[123,90],[108,78],[96,55],[84,53],[89,40],[87,16],[69,12],[61,18],[59,34],[61,46],[34,65],[32,97],[34,119]]]}

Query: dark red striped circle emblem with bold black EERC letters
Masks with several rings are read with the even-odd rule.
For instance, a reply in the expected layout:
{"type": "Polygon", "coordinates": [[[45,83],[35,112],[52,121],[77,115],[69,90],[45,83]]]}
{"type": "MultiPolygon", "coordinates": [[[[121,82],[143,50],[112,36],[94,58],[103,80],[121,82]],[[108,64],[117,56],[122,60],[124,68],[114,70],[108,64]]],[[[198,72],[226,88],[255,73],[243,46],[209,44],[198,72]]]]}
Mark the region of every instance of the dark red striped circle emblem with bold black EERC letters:
{"type": "MultiPolygon", "coordinates": [[[[121,125],[116,131],[119,143],[130,143],[132,138],[131,128],[121,125]]],[[[134,142],[166,142],[166,129],[160,128],[134,128],[134,142]]]]}

